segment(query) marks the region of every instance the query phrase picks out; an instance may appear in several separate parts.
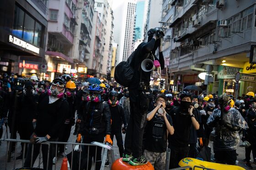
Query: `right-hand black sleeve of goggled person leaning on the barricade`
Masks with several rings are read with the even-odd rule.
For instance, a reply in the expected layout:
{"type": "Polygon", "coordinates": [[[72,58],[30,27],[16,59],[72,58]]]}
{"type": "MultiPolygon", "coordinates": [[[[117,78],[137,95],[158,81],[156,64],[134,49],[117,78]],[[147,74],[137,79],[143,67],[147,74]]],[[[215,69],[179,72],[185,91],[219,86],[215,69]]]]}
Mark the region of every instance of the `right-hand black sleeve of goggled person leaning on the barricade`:
{"type": "MultiPolygon", "coordinates": [[[[54,136],[59,132],[59,129],[61,127],[62,124],[64,124],[65,118],[68,115],[69,112],[69,103],[67,102],[67,100],[64,101],[60,101],[61,103],[61,107],[57,108],[58,113],[57,113],[57,119],[55,120],[55,124],[53,124],[52,129],[48,132],[49,136],[54,136]]],[[[59,103],[57,103],[58,107],[59,103]]]]}

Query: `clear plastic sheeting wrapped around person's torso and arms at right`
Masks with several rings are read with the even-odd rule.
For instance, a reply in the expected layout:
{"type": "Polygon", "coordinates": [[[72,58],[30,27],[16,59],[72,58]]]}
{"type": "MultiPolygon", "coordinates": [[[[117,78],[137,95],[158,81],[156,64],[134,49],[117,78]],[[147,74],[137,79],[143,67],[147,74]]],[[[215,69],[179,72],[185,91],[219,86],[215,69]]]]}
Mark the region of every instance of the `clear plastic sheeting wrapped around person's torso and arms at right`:
{"type": "MultiPolygon", "coordinates": [[[[220,118],[220,115],[220,110],[215,109],[208,118],[207,124],[213,123],[216,117],[220,118]]],[[[224,123],[229,123],[242,129],[248,129],[245,119],[235,108],[230,108],[227,113],[223,114],[223,121],[224,123]]],[[[238,131],[231,131],[224,125],[220,125],[219,122],[217,122],[214,127],[212,132],[212,134],[214,134],[213,150],[235,150],[240,140],[238,131]]]]}

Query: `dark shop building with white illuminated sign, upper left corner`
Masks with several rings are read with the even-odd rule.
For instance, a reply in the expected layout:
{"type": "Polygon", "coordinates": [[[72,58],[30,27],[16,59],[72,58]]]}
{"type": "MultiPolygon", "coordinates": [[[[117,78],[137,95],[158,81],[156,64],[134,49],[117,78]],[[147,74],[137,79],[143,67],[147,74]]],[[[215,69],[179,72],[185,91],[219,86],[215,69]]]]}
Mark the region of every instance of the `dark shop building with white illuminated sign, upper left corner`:
{"type": "MultiPolygon", "coordinates": [[[[46,16],[46,15],[45,15],[46,16]]],[[[48,21],[26,0],[3,0],[0,7],[0,73],[39,73],[48,21]],[[8,6],[8,8],[6,8],[8,6]],[[36,65],[20,67],[25,62],[36,65]]]]}

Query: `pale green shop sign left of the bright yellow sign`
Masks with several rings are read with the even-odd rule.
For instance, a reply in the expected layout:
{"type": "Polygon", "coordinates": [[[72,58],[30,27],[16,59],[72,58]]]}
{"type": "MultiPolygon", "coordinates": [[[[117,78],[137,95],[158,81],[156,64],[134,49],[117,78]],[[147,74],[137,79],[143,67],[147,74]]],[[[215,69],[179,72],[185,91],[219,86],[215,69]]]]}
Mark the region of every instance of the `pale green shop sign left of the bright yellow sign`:
{"type": "Polygon", "coordinates": [[[240,68],[229,67],[229,66],[219,66],[223,67],[219,70],[217,78],[218,79],[234,79],[235,74],[240,71],[240,68]]]}

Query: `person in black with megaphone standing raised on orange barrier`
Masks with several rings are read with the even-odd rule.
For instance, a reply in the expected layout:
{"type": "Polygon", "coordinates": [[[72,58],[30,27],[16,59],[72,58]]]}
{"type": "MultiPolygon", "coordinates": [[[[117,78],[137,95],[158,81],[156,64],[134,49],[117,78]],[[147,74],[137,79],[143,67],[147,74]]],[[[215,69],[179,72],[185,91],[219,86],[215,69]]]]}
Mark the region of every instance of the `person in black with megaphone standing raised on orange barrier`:
{"type": "Polygon", "coordinates": [[[148,31],[148,42],[142,42],[134,53],[133,83],[129,86],[130,118],[127,127],[123,161],[131,165],[144,165],[147,159],[143,156],[142,140],[146,123],[149,103],[153,99],[149,82],[151,72],[155,68],[164,69],[162,40],[165,36],[161,28],[156,27],[148,31]],[[159,59],[155,52],[159,49],[159,59]]]}

